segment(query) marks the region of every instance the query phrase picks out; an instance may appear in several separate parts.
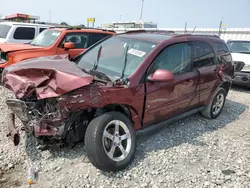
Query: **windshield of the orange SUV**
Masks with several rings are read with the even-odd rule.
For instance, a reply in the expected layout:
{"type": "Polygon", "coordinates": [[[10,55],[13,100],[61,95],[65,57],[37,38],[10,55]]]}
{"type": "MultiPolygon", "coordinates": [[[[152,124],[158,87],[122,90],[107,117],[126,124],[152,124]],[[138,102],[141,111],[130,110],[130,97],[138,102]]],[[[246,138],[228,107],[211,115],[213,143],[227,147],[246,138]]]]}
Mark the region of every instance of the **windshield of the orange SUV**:
{"type": "Polygon", "coordinates": [[[30,44],[33,46],[51,46],[58,39],[60,34],[61,31],[46,29],[37,35],[30,44]]]}

